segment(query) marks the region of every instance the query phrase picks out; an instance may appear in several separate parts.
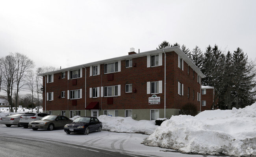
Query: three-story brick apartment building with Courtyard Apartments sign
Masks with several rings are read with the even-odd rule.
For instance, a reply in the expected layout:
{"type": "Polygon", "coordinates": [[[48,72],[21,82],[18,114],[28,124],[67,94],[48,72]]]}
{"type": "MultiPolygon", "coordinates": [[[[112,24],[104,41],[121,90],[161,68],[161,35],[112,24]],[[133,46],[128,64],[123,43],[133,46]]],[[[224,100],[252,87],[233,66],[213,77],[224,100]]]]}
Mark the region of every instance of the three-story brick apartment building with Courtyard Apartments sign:
{"type": "Polygon", "coordinates": [[[178,47],[72,66],[43,76],[44,111],[54,115],[131,116],[135,120],[178,115],[186,103],[200,111],[204,74],[178,47]]]}

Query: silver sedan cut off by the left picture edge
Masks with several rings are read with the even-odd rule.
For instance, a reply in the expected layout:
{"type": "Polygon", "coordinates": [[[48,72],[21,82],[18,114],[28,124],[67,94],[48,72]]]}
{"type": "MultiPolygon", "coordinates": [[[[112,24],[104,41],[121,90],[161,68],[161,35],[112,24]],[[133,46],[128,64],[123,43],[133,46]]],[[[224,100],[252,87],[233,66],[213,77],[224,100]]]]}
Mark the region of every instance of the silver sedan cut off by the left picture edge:
{"type": "Polygon", "coordinates": [[[22,116],[22,115],[24,115],[24,113],[1,117],[0,124],[5,124],[7,127],[10,127],[10,126],[22,127],[19,123],[20,116],[22,116]]]}

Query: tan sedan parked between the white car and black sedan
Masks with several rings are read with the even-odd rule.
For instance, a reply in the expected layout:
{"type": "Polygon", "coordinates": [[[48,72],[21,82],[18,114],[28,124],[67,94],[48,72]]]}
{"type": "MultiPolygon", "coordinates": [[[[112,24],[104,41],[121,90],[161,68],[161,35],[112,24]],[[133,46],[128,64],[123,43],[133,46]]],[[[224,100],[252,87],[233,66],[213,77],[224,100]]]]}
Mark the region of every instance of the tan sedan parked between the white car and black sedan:
{"type": "Polygon", "coordinates": [[[52,131],[54,128],[63,128],[66,124],[71,122],[72,120],[66,116],[48,115],[40,120],[29,122],[28,127],[32,128],[33,130],[48,129],[52,131]]]}

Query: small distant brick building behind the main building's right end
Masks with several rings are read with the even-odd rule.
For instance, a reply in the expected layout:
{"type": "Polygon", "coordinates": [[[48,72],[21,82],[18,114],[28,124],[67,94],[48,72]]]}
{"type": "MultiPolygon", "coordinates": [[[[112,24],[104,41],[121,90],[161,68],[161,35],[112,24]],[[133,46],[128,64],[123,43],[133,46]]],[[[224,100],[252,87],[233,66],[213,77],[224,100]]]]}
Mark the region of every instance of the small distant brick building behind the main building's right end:
{"type": "MultiPolygon", "coordinates": [[[[214,87],[210,86],[201,86],[202,92],[201,92],[201,111],[205,110],[212,110],[215,108],[213,106],[214,98],[215,98],[215,90],[214,87]]],[[[215,100],[214,105],[216,106],[218,103],[217,100],[215,100]]]]}

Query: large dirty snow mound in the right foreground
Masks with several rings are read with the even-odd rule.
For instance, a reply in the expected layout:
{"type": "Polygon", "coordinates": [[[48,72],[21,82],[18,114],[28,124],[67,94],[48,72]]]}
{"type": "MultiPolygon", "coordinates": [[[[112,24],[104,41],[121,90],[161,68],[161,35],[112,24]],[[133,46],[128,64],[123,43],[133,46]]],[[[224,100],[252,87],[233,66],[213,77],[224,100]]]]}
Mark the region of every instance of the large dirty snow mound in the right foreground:
{"type": "Polygon", "coordinates": [[[183,153],[256,157],[256,103],[243,109],[172,116],[148,138],[148,146],[183,153]]]}

